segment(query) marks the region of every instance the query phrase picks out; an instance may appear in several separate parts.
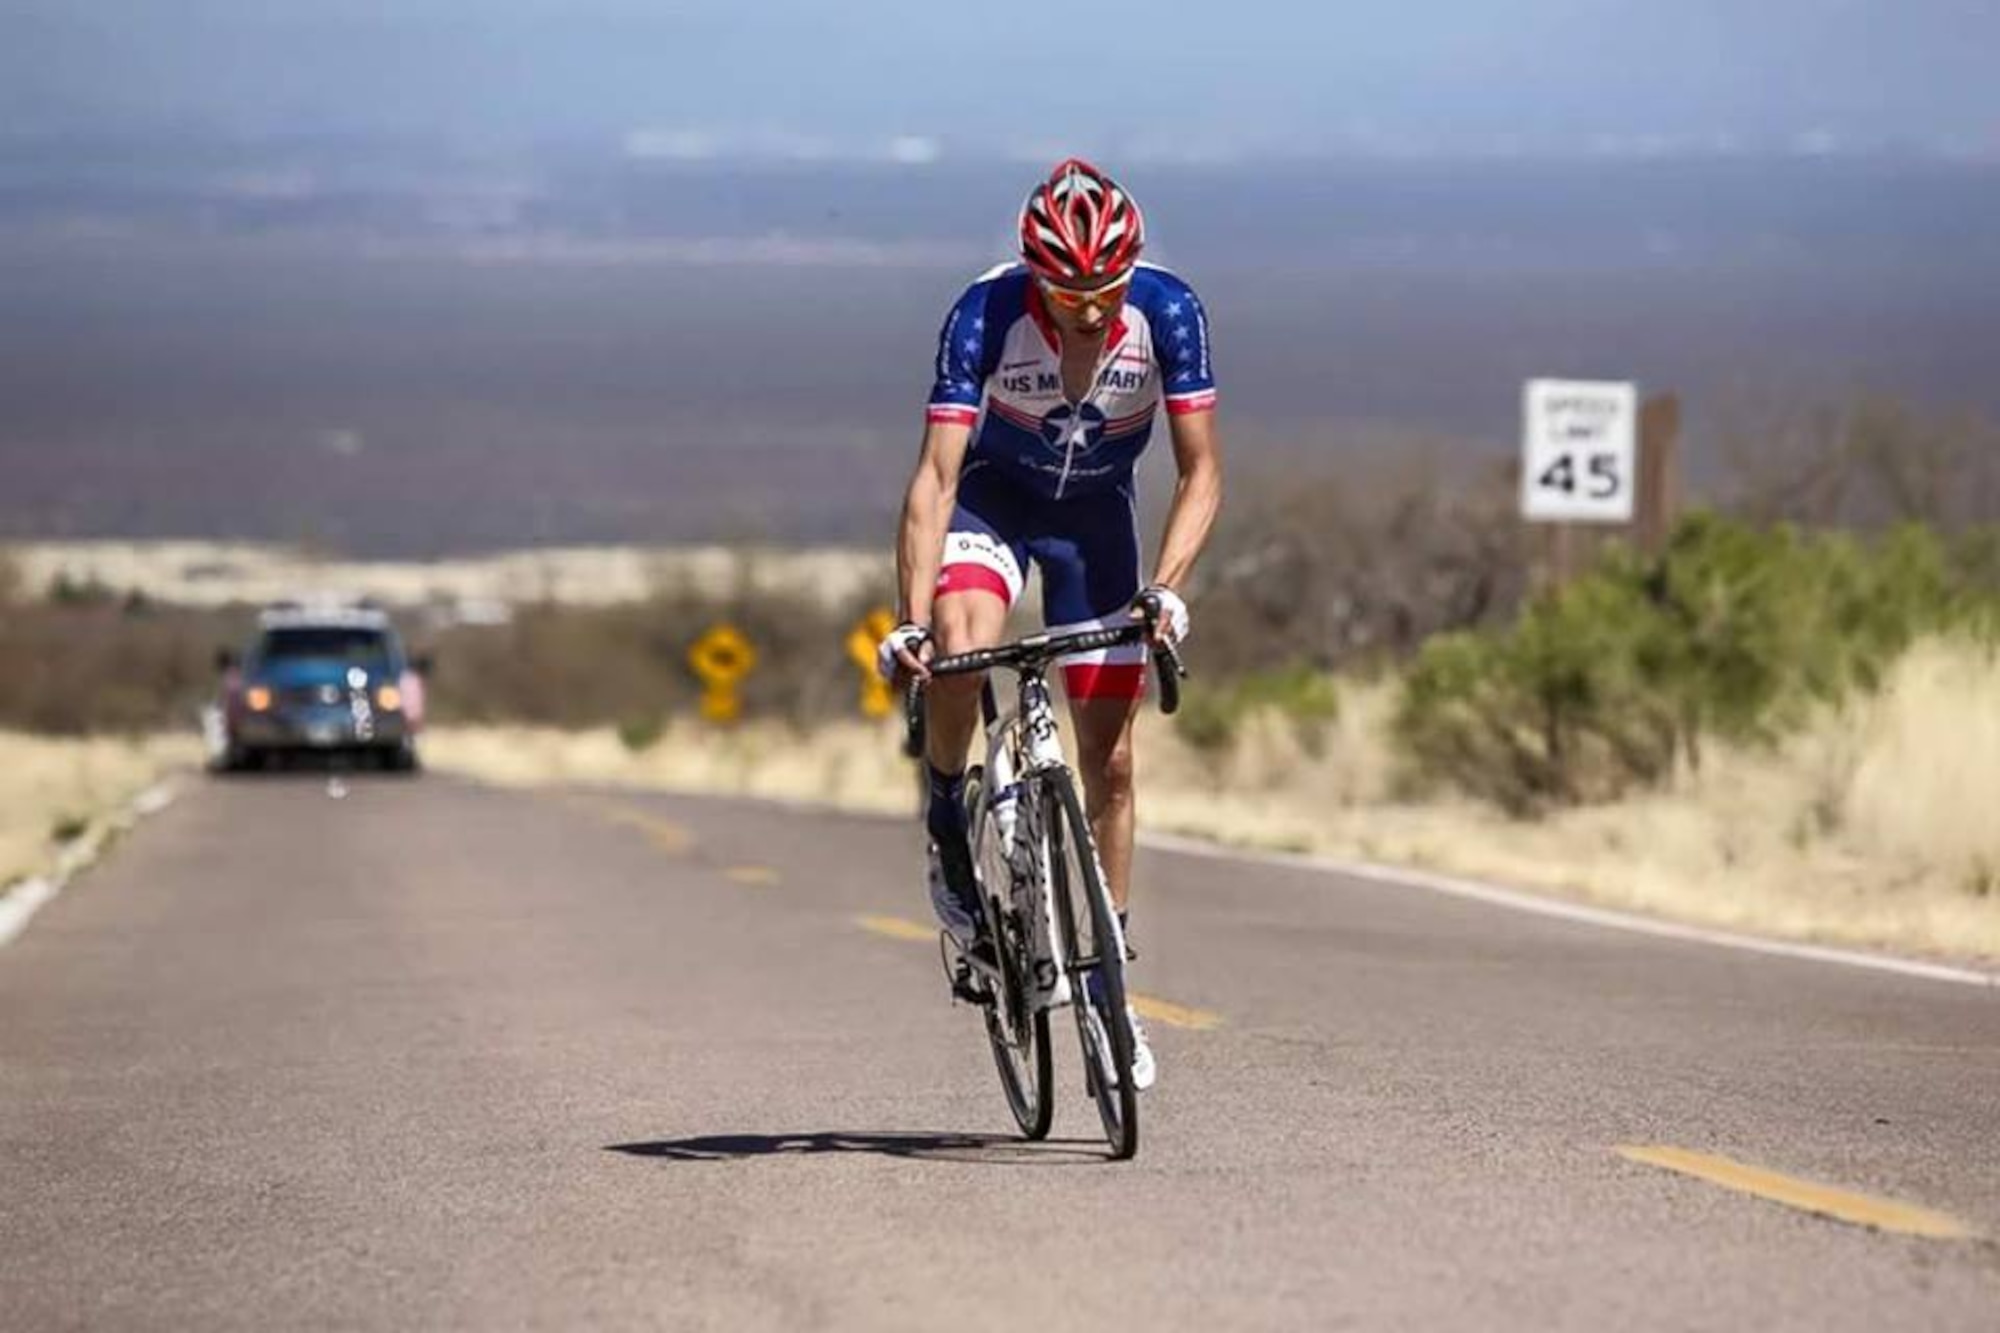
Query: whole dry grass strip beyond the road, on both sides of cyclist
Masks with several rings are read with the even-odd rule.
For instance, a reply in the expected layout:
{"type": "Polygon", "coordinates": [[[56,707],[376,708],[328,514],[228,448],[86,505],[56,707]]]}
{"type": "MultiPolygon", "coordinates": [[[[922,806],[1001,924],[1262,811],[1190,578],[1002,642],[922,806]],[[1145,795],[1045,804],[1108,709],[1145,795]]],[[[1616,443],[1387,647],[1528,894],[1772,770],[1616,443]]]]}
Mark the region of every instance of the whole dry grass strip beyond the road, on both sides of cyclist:
{"type": "MultiPolygon", "coordinates": [[[[1388,685],[1342,693],[1318,757],[1276,717],[1222,761],[1148,719],[1148,827],[1244,847],[1422,865],[1762,935],[2000,959],[2000,658],[1932,642],[1888,687],[1780,751],[1718,749],[1670,791],[1516,823],[1392,799],[1388,685]]],[[[814,737],[682,725],[644,755],[610,733],[458,731],[432,763],[508,783],[602,781],[910,811],[892,727],[814,737]]]]}

